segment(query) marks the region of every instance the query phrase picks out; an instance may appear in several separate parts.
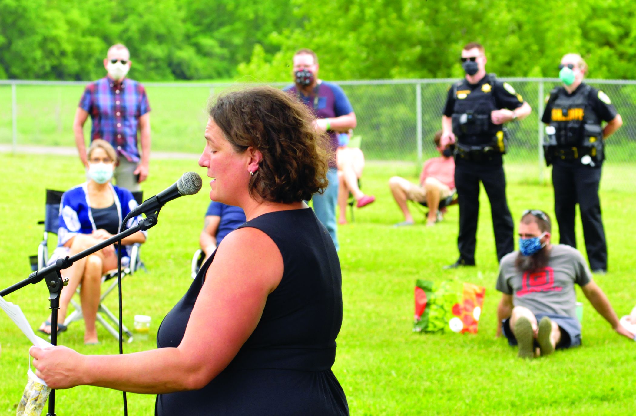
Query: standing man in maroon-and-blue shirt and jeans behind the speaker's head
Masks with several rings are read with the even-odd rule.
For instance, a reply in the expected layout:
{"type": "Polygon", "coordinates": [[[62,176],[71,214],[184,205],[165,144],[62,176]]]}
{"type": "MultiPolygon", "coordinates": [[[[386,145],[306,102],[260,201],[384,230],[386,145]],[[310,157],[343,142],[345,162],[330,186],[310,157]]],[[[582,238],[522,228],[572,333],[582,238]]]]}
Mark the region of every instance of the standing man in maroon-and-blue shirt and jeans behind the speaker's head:
{"type": "Polygon", "coordinates": [[[336,148],[338,133],[356,128],[356,113],[342,88],[334,83],[318,78],[318,57],[310,49],[301,49],[294,54],[294,85],[285,88],[316,116],[315,128],[327,132],[331,139],[333,159],[329,161],[327,179],[329,186],[322,195],[314,195],[314,211],[321,223],[329,231],[336,250],[339,247],[336,236],[336,204],[338,202],[338,168],[336,165],[336,148]]]}

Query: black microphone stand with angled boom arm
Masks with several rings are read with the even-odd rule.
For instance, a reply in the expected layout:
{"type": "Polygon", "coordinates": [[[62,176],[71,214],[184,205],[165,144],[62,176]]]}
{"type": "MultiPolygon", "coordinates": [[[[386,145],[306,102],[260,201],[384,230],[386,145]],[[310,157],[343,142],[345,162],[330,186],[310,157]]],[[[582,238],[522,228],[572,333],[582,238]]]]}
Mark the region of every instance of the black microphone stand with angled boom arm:
{"type": "MultiPolygon", "coordinates": [[[[125,237],[132,235],[138,231],[146,231],[149,228],[156,225],[158,219],[157,216],[159,214],[159,210],[161,207],[152,207],[152,212],[149,214],[148,212],[144,212],[146,214],[146,218],[142,219],[128,230],[125,230],[121,233],[113,235],[113,237],[100,242],[99,244],[95,244],[93,247],[89,247],[88,249],[81,251],[78,254],[75,254],[71,257],[59,258],[55,261],[55,264],[45,267],[37,272],[33,272],[32,274],[24,279],[23,281],[17,282],[12,286],[0,291],[0,296],[6,296],[10,293],[17,291],[18,289],[24,288],[27,284],[36,284],[39,281],[44,280],[46,282],[46,287],[50,293],[49,301],[51,303],[51,343],[53,345],[57,345],[57,310],[60,308],[60,293],[62,292],[62,288],[67,285],[69,279],[62,279],[62,274],[60,274],[60,270],[64,270],[65,268],[69,268],[73,265],[74,262],[79,259],[85,258],[86,256],[90,256],[90,254],[95,253],[103,249],[104,247],[108,247],[115,242],[121,241],[125,237]]],[[[56,416],[55,415],[55,390],[52,390],[48,396],[48,413],[46,416],[56,416]]]]}

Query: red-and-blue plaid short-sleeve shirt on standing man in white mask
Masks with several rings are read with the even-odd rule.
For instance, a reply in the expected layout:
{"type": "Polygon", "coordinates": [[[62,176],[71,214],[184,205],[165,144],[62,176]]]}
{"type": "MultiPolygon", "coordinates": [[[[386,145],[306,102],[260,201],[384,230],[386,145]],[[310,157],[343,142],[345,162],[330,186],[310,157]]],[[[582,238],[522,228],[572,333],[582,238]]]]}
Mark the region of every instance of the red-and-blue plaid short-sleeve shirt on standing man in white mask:
{"type": "Polygon", "coordinates": [[[124,78],[116,83],[108,76],[88,84],[79,100],[93,122],[91,141],[104,139],[130,162],[139,162],[139,117],[150,111],[141,83],[124,78]]]}

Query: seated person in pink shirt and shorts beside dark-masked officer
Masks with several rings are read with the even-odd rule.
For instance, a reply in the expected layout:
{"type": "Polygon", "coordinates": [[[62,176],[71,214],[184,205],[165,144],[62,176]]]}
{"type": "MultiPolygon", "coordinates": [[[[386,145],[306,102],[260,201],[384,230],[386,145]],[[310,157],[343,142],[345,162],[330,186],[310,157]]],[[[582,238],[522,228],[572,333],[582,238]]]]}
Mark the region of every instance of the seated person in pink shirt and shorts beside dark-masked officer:
{"type": "Polygon", "coordinates": [[[439,157],[430,158],[424,162],[420,173],[420,186],[412,184],[408,179],[394,176],[389,179],[389,187],[396,204],[404,214],[404,221],[396,226],[413,225],[413,216],[406,205],[407,200],[426,202],[429,214],[426,225],[435,225],[441,215],[438,216],[439,201],[450,197],[455,190],[455,160],[453,151],[449,147],[442,148],[439,145],[441,130],[435,134],[435,147],[439,151],[439,157]]]}

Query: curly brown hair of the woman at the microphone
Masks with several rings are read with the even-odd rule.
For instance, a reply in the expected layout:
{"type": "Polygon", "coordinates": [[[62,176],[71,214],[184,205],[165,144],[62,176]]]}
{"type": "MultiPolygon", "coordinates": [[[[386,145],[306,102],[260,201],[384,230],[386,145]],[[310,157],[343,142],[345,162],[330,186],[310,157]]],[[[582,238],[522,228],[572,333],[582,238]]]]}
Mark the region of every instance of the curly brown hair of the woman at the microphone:
{"type": "Polygon", "coordinates": [[[209,114],[237,153],[250,146],[263,160],[249,181],[252,198],[291,204],[324,192],[328,136],[317,132],[315,116],[290,94],[253,87],[220,95],[209,114]]]}

